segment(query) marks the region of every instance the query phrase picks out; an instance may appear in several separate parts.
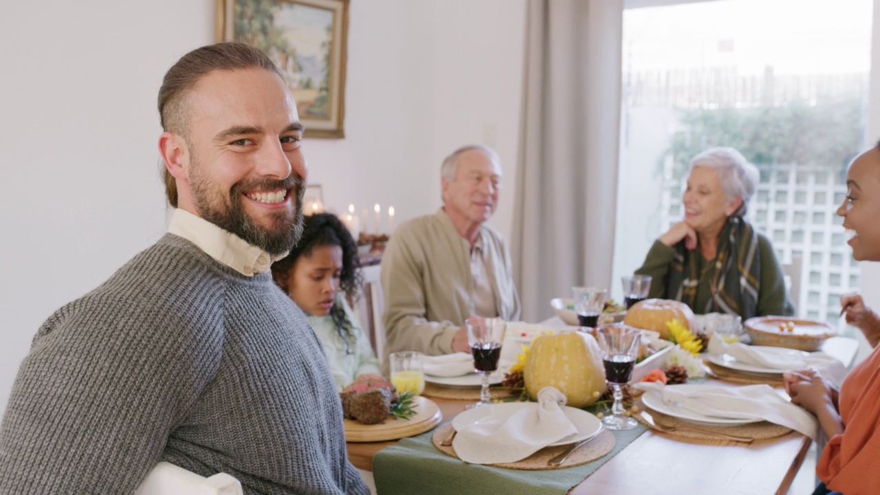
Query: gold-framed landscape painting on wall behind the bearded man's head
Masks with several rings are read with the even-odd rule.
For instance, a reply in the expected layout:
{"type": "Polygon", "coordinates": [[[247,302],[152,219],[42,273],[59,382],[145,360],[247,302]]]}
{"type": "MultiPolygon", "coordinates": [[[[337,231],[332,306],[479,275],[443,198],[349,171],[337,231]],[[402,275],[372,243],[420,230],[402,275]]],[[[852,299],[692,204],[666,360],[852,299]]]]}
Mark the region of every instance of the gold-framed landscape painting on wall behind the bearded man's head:
{"type": "Polygon", "coordinates": [[[306,137],[344,137],[348,0],[216,0],[217,41],[266,52],[297,101],[306,137]]]}

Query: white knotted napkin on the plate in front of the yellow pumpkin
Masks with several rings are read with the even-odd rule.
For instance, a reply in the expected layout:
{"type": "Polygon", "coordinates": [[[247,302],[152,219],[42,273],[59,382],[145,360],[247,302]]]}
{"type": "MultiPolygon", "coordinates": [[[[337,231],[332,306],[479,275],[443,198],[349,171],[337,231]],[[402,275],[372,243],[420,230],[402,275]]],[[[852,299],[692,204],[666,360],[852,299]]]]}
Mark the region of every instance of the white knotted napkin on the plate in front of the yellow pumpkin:
{"type": "Polygon", "coordinates": [[[492,413],[481,418],[462,428],[452,440],[452,447],[458,458],[473,464],[525,459],[577,432],[561,409],[565,401],[565,395],[556,388],[541,388],[538,403],[525,403],[512,415],[492,413]]]}

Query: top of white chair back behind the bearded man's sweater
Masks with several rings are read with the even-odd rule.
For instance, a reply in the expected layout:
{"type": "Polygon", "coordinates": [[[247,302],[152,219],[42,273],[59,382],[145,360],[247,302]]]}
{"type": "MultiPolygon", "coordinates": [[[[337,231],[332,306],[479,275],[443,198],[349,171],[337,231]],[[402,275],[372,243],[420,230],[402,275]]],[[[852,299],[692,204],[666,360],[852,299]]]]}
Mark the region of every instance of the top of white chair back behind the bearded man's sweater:
{"type": "Polygon", "coordinates": [[[238,480],[226,473],[202,477],[171,462],[159,462],[135,495],[244,495],[238,480]]]}

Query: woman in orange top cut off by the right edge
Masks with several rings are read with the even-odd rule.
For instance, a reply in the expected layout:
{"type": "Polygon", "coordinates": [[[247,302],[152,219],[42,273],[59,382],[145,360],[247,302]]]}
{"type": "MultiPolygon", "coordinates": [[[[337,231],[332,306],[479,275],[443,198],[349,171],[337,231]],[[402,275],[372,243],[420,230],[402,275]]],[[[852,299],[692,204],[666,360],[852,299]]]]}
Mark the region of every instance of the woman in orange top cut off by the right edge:
{"type": "MultiPolygon", "coordinates": [[[[880,262],[880,143],[849,166],[847,189],[837,214],[854,234],[848,241],[853,257],[880,262]]],[[[809,370],[785,373],[785,387],[791,402],[816,414],[828,439],[816,464],[823,483],[814,493],[868,495],[880,489],[880,316],[858,294],[845,294],[840,303],[840,313],[862,330],[874,351],[847,375],[840,394],[809,370]]]]}

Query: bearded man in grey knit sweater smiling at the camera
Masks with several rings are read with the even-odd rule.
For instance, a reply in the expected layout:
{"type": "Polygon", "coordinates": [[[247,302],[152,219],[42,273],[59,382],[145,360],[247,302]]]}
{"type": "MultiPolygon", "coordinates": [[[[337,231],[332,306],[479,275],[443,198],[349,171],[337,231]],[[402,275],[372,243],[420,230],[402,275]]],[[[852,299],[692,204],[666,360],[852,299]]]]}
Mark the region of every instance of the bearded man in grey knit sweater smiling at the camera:
{"type": "Polygon", "coordinates": [[[302,232],[303,127],[256,48],[198,48],[159,90],[169,233],[59,309],[0,427],[2,493],[132,493],[167,461],[246,493],[368,493],[321,344],[272,281],[302,232]]]}

